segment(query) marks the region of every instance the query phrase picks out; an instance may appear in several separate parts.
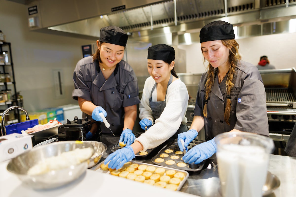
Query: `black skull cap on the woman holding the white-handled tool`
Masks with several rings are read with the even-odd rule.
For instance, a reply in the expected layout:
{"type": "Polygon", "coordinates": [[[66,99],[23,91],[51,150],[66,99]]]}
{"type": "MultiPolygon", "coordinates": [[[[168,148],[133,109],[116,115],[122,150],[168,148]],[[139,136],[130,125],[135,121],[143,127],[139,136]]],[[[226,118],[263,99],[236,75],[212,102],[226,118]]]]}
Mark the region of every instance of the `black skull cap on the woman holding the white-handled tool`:
{"type": "Polygon", "coordinates": [[[100,30],[99,41],[125,47],[126,42],[128,41],[128,35],[116,26],[102,27],[100,30]]]}

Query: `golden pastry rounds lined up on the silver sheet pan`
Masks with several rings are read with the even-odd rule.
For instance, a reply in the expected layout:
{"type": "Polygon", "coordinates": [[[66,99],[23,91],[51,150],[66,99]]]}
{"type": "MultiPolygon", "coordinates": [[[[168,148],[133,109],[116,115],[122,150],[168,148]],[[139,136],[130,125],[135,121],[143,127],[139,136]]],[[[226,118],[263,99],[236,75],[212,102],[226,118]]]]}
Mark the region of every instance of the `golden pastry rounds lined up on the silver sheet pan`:
{"type": "Polygon", "coordinates": [[[176,170],[165,170],[163,167],[155,167],[145,164],[139,165],[131,162],[126,162],[124,166],[118,170],[108,168],[108,164],[102,164],[101,169],[109,170],[110,174],[115,176],[170,190],[177,190],[178,185],[185,177],[183,172],[177,172],[176,170]]]}

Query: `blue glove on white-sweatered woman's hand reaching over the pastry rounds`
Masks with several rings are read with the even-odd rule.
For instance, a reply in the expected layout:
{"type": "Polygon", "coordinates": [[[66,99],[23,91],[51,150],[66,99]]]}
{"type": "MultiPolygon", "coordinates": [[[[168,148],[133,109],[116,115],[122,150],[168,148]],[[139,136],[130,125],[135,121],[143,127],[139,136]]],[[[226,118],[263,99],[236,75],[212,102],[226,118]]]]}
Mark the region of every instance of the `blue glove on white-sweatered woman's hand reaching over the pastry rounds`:
{"type": "Polygon", "coordinates": [[[136,155],[133,152],[133,148],[131,146],[125,146],[122,149],[118,149],[114,153],[110,154],[106,159],[104,164],[108,164],[109,168],[116,168],[118,170],[119,168],[123,167],[123,165],[130,161],[131,159],[135,158],[136,155]]]}

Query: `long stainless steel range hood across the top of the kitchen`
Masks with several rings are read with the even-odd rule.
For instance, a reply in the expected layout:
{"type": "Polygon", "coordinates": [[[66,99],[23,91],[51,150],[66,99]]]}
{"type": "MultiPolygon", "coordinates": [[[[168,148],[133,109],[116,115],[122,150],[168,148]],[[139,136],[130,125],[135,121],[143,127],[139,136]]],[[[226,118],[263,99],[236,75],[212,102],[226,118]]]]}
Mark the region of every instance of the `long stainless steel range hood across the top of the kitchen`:
{"type": "Polygon", "coordinates": [[[32,31],[95,39],[108,25],[122,28],[134,40],[168,44],[198,42],[200,28],[215,20],[237,26],[236,38],[282,33],[296,26],[296,0],[11,1],[28,6],[32,31]]]}

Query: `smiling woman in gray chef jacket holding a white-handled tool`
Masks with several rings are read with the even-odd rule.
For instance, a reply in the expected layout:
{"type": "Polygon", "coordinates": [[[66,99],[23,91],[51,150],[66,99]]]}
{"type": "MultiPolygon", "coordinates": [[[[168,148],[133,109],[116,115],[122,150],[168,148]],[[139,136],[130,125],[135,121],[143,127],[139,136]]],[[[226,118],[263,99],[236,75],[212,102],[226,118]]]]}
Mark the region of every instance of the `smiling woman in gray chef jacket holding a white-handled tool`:
{"type": "MultiPolygon", "coordinates": [[[[140,99],[136,74],[122,60],[127,40],[128,35],[119,27],[101,28],[96,53],[76,64],[72,97],[94,120],[102,122],[102,112],[113,133],[120,134],[120,141],[130,145],[135,139],[132,129],[140,99]]],[[[100,128],[103,133],[111,133],[104,124],[100,128]]],[[[94,133],[88,134],[91,139],[94,133]]]]}

